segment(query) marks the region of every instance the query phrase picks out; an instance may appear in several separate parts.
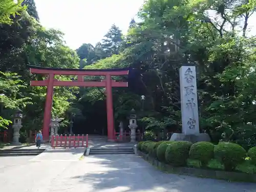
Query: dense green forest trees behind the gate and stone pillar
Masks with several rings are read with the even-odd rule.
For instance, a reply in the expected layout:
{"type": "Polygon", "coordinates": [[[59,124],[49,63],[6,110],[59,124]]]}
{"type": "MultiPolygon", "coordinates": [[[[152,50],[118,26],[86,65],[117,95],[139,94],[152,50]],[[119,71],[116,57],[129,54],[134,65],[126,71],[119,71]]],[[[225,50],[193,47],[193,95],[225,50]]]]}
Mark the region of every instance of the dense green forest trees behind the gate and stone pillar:
{"type": "MultiPolygon", "coordinates": [[[[40,24],[33,0],[0,1],[0,127],[23,110],[21,135],[42,126],[45,87],[30,87],[27,65],[55,68],[131,67],[129,88],[113,90],[116,130],[134,108],[146,137],[181,130],[179,68],[197,67],[200,130],[214,142],[256,144],[256,38],[248,36],[255,0],[148,0],[123,35],[113,25],[93,46],[66,46],[61,31],[40,24]],[[142,105],[141,95],[145,95],[142,105]]],[[[253,25],[253,24],[251,24],[253,25]]],[[[59,79],[70,77],[59,76],[59,79]]],[[[96,78],[96,77],[94,77],[96,78]]],[[[54,89],[61,133],[106,127],[104,90],[54,89]],[[100,119],[100,120],[99,120],[100,119]]]]}

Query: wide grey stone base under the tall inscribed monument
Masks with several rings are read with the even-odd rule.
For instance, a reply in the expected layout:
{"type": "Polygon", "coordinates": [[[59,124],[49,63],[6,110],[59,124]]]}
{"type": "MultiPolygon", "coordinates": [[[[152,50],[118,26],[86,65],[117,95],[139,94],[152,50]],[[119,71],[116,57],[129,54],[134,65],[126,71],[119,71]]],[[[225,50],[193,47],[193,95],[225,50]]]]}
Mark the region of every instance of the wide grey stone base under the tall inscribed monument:
{"type": "Polygon", "coordinates": [[[196,135],[186,135],[183,133],[174,133],[172,137],[170,137],[170,141],[189,141],[192,143],[196,143],[199,141],[209,141],[210,136],[207,133],[199,133],[196,135]]]}

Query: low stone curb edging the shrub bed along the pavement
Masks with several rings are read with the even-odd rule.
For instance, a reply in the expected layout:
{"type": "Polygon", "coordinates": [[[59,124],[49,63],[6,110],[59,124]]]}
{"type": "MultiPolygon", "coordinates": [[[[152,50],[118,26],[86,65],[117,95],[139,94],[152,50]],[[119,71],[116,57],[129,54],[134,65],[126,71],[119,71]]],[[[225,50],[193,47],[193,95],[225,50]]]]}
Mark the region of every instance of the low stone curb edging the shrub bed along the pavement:
{"type": "Polygon", "coordinates": [[[238,172],[225,172],[224,170],[211,170],[211,169],[200,169],[191,167],[174,167],[154,159],[147,154],[137,151],[138,155],[145,161],[157,166],[160,170],[168,173],[189,175],[202,178],[210,179],[222,179],[228,181],[241,181],[241,182],[252,182],[256,183],[256,174],[246,174],[238,172]]]}

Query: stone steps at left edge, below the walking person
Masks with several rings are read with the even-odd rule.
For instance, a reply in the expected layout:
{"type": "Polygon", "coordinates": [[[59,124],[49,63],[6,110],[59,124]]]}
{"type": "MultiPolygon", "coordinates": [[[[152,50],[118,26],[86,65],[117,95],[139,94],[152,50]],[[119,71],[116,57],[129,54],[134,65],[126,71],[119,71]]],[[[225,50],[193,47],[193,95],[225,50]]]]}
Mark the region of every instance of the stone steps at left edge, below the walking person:
{"type": "Polygon", "coordinates": [[[45,148],[33,148],[33,149],[10,149],[10,150],[0,150],[0,157],[7,156],[36,156],[45,151],[45,148]]]}

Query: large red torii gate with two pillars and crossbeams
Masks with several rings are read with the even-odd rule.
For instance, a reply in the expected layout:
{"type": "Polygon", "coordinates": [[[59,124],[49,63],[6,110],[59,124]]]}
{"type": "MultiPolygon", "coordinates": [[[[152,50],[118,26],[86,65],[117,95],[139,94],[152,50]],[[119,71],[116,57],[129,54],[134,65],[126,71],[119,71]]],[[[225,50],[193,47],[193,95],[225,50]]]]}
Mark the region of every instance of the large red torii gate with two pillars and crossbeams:
{"type": "Polygon", "coordinates": [[[128,82],[116,82],[111,80],[111,76],[128,75],[128,69],[111,69],[111,70],[84,70],[84,69],[58,69],[58,68],[44,68],[29,65],[31,74],[48,75],[46,80],[31,80],[30,86],[46,86],[47,95],[44,112],[44,122],[42,126],[42,133],[44,140],[49,139],[50,121],[52,111],[53,89],[56,86],[64,87],[105,87],[106,88],[106,110],[108,118],[108,139],[115,139],[114,131],[114,112],[112,87],[128,87],[128,82]],[[54,79],[54,75],[76,75],[76,81],[59,81],[54,79]],[[102,81],[84,81],[83,76],[105,76],[102,81]]]}

